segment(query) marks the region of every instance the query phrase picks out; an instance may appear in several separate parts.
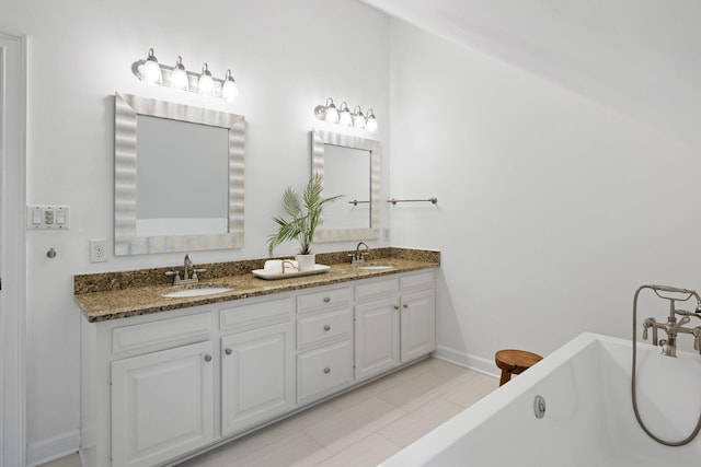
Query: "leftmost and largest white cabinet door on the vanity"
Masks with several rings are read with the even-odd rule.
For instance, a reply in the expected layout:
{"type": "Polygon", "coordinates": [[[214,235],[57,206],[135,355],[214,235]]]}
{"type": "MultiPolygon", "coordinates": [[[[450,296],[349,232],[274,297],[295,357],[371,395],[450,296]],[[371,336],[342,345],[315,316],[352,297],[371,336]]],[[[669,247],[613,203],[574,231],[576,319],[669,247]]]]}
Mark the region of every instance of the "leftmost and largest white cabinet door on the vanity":
{"type": "Polygon", "coordinates": [[[152,466],[214,440],[211,342],[112,363],[112,465],[152,466]]]}

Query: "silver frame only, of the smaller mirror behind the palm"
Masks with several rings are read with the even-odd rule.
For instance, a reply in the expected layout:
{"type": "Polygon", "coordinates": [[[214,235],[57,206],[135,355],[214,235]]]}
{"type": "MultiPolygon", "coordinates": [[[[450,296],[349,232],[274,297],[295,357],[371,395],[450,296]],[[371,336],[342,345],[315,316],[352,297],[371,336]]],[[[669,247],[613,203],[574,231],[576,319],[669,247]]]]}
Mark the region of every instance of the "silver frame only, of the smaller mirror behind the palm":
{"type": "MultiPolygon", "coordinates": [[[[379,141],[333,131],[311,130],[311,172],[324,175],[324,144],[370,151],[370,226],[368,229],[324,229],[320,225],[314,232],[314,242],[345,242],[380,238],[380,156],[379,141]]],[[[327,196],[343,194],[327,194],[327,196]]],[[[338,200],[337,202],[347,202],[338,200]]]]}

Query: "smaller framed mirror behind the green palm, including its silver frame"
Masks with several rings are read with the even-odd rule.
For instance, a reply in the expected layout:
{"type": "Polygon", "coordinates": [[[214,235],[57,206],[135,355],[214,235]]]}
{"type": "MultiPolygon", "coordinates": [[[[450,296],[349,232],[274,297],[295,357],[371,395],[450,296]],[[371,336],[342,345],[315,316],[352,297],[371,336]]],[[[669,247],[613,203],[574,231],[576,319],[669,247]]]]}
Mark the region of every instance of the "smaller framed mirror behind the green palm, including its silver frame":
{"type": "Polygon", "coordinates": [[[314,242],[378,240],[380,237],[379,141],[311,131],[312,174],[324,180],[324,196],[343,195],[326,206],[314,242]]]}

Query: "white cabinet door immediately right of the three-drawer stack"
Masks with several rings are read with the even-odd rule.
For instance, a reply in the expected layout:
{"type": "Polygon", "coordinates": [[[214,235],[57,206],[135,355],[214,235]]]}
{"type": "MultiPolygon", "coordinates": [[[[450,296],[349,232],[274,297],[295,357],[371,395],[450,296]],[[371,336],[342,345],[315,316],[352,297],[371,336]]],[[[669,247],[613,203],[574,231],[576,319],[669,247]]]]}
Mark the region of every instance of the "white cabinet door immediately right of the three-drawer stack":
{"type": "Polygon", "coordinates": [[[382,373],[399,364],[399,299],[355,307],[355,378],[382,373]]]}

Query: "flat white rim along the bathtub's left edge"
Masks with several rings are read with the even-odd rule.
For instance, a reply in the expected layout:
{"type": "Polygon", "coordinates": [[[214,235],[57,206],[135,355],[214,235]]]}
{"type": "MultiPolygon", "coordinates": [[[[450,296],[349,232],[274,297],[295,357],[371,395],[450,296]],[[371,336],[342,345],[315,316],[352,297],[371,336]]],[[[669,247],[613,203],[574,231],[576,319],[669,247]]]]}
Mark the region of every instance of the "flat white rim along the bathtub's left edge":
{"type": "Polygon", "coordinates": [[[538,382],[565,364],[574,354],[601,341],[630,346],[630,340],[594,332],[583,332],[547,355],[545,359],[527,372],[512,380],[507,385],[499,387],[452,419],[435,428],[380,464],[380,466],[406,467],[428,464],[438,452],[437,446],[448,447],[459,442],[467,433],[484,423],[495,411],[506,407],[524,394],[533,392],[538,382]]]}

